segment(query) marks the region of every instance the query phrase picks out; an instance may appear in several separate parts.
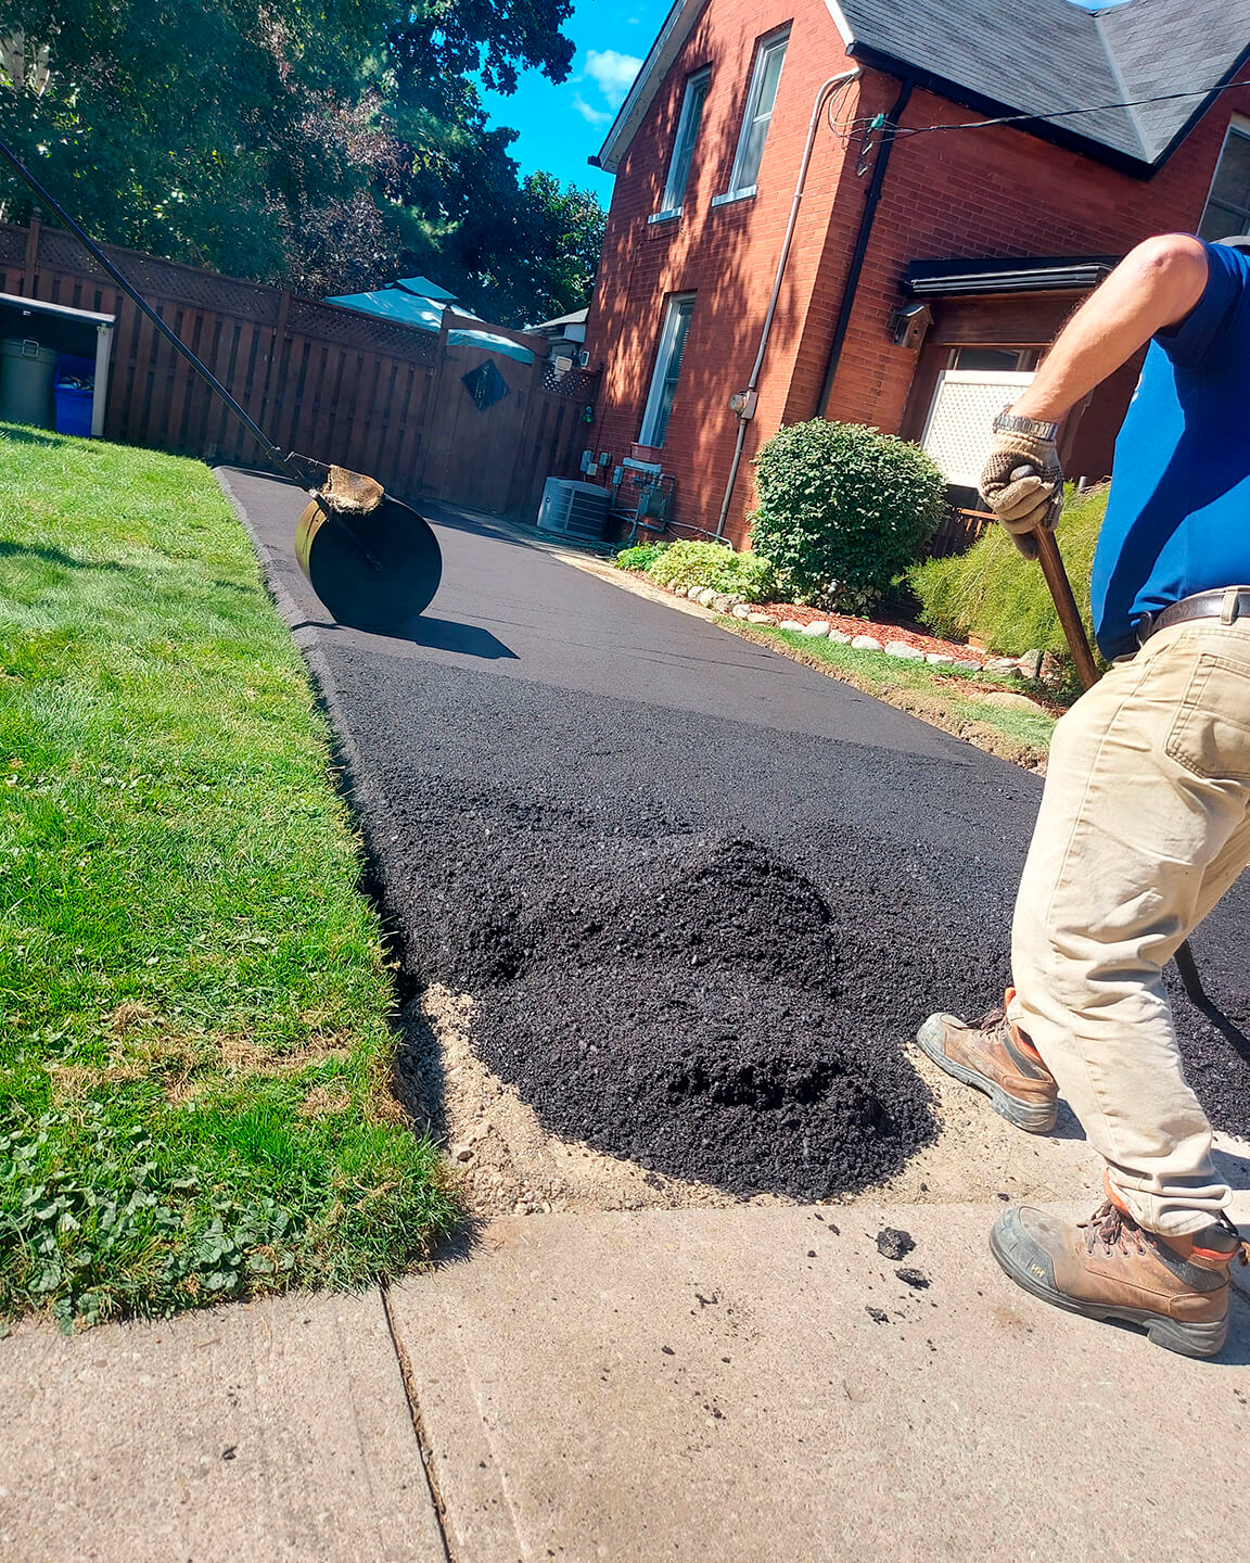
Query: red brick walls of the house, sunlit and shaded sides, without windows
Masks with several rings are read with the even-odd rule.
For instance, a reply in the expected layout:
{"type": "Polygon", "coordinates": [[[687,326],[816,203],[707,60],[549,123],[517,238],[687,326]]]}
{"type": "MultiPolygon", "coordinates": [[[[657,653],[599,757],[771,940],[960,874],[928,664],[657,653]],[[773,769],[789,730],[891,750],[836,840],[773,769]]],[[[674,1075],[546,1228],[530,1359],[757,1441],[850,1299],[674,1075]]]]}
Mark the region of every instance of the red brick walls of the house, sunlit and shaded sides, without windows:
{"type": "MultiPolygon", "coordinates": [[[[591,441],[597,450],[609,450],[612,461],[630,455],[642,424],[664,300],[695,292],[662,452],[664,469],[677,478],[675,519],[681,525],[716,528],[738,431],[728,399],[745,386],[758,349],[811,105],[820,83],[850,64],[823,0],[795,0],[789,16],[764,0],[712,0],[619,169],[588,322],[591,361],[605,367],[591,441]],[[730,181],[758,39],[786,20],[791,41],[758,195],[712,208],[711,199],[730,181]],[[662,202],[686,77],[708,64],[712,78],[683,214],[648,225],[647,217],[662,202]]],[[[847,113],[886,111],[897,94],[895,80],[866,72],[852,89],[847,113]]],[[[1006,127],[900,136],[828,416],[889,431],[902,427],[917,359],[891,344],[889,317],[902,302],[900,278],[909,261],[1112,255],[1152,233],[1192,230],[1234,111],[1250,113],[1250,89],[1217,100],[1148,180],[1006,127]]],[[[977,117],[917,91],[903,127],[977,117]]],[[[822,125],[730,511],[727,535],[738,544],[745,541],[753,503],[750,458],[781,422],[817,411],[870,177],[856,178],[855,153],[822,125]]],[[[1130,380],[1091,410],[1080,441],[1081,470],[1091,475],[1098,475],[1097,466],[1109,456],[1130,380]]]]}

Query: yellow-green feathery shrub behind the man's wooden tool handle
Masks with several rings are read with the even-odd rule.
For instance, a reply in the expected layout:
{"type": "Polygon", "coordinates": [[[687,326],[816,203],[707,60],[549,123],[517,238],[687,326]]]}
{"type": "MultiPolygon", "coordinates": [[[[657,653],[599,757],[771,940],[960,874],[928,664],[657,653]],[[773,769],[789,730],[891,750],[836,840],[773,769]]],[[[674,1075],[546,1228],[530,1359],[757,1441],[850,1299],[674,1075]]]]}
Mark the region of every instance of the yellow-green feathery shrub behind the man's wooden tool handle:
{"type": "MultiPolygon", "coordinates": [[[[1069,492],[1059,520],[1064,567],[1088,635],[1089,572],[1106,495],[1105,486],[1080,499],[1069,492]]],[[[967,553],[917,564],[908,570],[908,585],[920,599],[920,622],[934,635],[956,641],[975,636],[1006,656],[1067,652],[1041,564],[1025,560],[1002,527],[991,527],[967,553]]]]}

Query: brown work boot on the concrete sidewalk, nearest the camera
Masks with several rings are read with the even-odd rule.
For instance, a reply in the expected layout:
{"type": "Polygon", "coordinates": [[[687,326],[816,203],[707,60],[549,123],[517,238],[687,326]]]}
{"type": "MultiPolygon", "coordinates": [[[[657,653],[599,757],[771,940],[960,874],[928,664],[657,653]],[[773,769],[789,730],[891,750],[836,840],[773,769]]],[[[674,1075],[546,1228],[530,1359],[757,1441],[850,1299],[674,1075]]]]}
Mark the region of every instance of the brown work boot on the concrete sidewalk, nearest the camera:
{"type": "Polygon", "coordinates": [[[989,1235],[1006,1274],[1044,1302],[1088,1319],[1127,1319],[1169,1352],[1214,1357],[1228,1336],[1228,1266],[1247,1263],[1220,1214],[1183,1238],[1147,1232],[1108,1200],[1089,1221],[1005,1210],[989,1235]]]}

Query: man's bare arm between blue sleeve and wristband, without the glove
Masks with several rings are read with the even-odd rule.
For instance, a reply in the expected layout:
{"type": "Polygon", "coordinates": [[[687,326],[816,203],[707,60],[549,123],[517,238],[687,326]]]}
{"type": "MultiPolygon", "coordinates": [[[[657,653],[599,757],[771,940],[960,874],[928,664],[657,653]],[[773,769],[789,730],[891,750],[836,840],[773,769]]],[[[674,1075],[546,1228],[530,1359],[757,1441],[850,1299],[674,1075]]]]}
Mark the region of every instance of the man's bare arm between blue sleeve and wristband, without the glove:
{"type": "Polygon", "coordinates": [[[1156,331],[1178,325],[1206,288],[1206,250],[1188,233],[1147,239],[1072,316],[1011,411],[1058,424],[1156,331]]]}

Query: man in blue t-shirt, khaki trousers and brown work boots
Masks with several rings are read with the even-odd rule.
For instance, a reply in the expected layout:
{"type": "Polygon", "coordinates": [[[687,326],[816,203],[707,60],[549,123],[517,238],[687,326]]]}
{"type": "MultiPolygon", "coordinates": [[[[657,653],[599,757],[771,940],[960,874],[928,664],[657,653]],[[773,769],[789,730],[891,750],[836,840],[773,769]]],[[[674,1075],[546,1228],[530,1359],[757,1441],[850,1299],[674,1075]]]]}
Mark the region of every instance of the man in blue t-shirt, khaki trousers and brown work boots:
{"type": "Polygon", "coordinates": [[[1062,508],[1059,422],[1147,341],[1092,575],[1111,667],[1055,728],[1016,986],[977,1025],[930,1016],[919,1043],[1033,1133],[1062,1091],[1106,1161],[1091,1221],[1003,1213],[991,1247],[1006,1274],[1209,1357],[1247,1255],[1161,969],[1250,861],[1250,252],[1188,234],[1138,245],[995,419],[981,491],[1036,555],[1033,533],[1062,508]]]}

